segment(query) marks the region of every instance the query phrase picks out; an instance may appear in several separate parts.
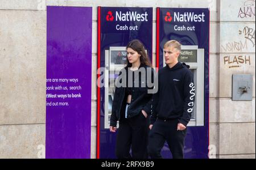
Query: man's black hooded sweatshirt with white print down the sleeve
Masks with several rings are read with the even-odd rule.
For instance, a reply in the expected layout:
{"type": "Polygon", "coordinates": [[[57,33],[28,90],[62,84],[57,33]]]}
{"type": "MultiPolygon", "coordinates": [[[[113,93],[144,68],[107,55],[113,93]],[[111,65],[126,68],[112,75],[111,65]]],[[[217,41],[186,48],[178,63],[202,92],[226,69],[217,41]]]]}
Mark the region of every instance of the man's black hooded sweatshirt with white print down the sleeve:
{"type": "Polygon", "coordinates": [[[185,63],[178,62],[174,67],[168,65],[159,69],[158,92],[152,97],[151,124],[156,118],[179,119],[187,126],[191,119],[195,102],[193,74],[185,63]]]}

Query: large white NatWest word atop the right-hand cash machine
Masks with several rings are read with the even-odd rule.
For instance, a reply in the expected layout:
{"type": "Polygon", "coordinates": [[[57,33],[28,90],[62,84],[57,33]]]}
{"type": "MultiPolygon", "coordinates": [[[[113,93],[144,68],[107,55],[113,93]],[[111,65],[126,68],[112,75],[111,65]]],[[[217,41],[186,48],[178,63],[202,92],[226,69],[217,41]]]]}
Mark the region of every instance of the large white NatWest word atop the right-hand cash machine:
{"type": "Polygon", "coordinates": [[[194,12],[174,12],[174,22],[205,22],[204,12],[202,14],[194,14],[194,12]]]}

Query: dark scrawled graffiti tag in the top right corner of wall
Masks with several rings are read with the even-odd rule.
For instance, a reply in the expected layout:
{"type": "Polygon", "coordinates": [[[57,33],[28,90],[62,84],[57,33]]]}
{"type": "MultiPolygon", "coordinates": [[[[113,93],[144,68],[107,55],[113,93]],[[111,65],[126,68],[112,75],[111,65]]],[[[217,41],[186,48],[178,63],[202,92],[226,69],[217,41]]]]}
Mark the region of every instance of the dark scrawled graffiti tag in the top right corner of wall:
{"type": "Polygon", "coordinates": [[[255,0],[247,0],[240,7],[237,18],[251,18],[255,16],[255,0]]]}

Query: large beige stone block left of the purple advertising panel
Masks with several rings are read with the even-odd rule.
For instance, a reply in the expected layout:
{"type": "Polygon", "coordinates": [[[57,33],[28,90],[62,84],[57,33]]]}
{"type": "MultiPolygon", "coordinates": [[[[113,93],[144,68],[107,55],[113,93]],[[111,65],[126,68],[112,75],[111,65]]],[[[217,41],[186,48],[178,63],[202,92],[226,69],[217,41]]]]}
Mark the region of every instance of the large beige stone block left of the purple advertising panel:
{"type": "Polygon", "coordinates": [[[0,10],[0,125],[44,123],[46,11],[0,10]]]}

